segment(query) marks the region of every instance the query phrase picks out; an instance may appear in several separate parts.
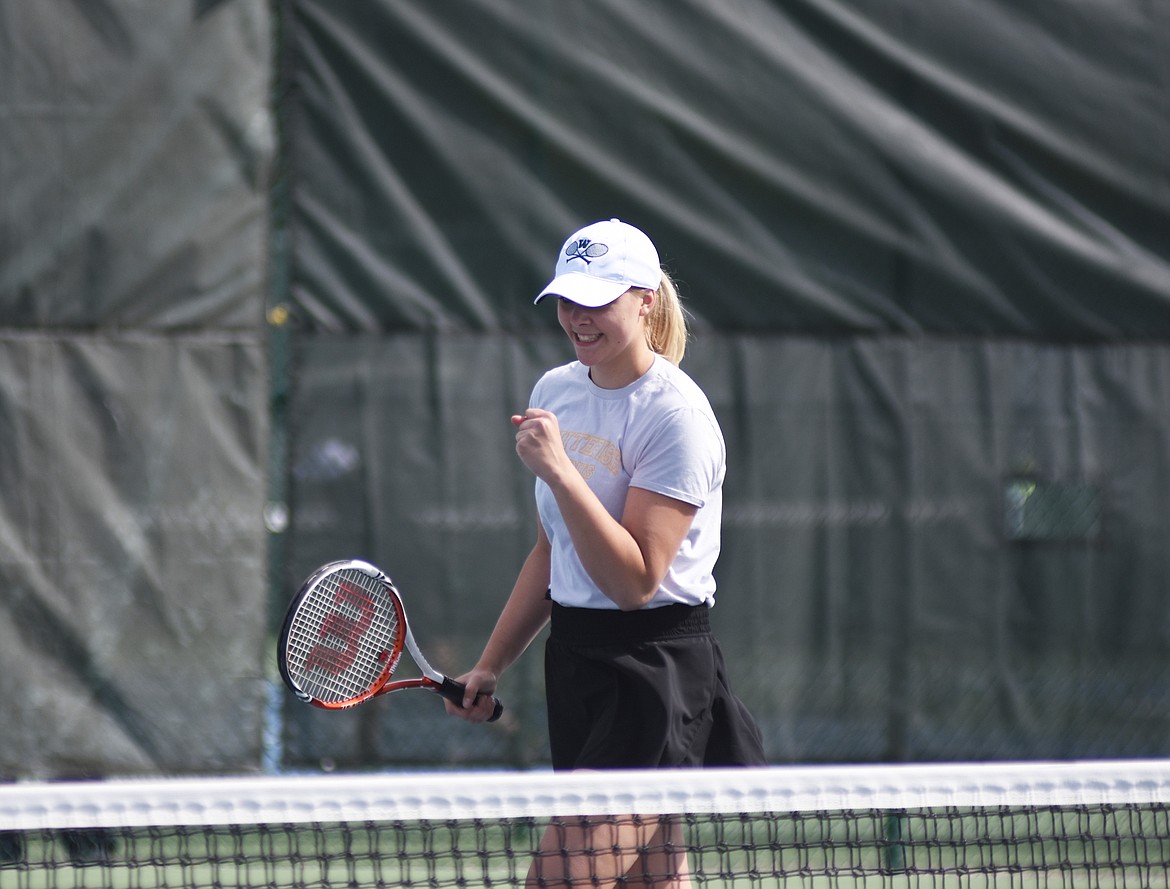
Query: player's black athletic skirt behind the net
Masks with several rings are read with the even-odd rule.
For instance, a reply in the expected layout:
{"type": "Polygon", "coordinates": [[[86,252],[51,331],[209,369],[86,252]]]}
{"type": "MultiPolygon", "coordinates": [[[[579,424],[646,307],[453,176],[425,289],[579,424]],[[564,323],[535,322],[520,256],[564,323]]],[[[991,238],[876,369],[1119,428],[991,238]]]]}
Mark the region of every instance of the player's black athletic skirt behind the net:
{"type": "Polygon", "coordinates": [[[709,611],[553,604],[544,650],[553,769],[766,764],[709,611]]]}

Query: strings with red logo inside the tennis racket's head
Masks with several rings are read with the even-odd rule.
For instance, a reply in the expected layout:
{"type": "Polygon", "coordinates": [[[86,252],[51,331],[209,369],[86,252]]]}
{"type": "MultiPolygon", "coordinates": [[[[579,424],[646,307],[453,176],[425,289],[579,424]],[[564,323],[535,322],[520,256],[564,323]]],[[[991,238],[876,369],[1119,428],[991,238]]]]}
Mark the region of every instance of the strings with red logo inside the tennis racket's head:
{"type": "Polygon", "coordinates": [[[317,701],[352,701],[393,673],[401,634],[383,583],[362,571],[338,571],[309,591],[291,621],[289,674],[317,701]]]}

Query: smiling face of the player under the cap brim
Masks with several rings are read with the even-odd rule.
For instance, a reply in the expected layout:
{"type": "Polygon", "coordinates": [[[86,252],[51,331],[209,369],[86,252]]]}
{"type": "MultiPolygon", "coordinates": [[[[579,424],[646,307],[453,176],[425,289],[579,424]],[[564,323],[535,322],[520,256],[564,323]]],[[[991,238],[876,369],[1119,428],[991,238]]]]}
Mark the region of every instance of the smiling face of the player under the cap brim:
{"type": "Polygon", "coordinates": [[[638,289],[627,290],[600,309],[557,299],[557,319],[594,384],[621,388],[649,370],[654,353],[642,324],[653,304],[654,291],[638,289]]]}

